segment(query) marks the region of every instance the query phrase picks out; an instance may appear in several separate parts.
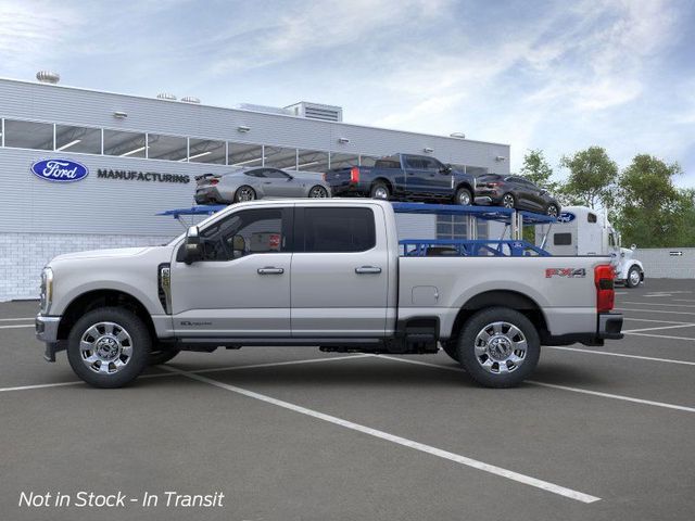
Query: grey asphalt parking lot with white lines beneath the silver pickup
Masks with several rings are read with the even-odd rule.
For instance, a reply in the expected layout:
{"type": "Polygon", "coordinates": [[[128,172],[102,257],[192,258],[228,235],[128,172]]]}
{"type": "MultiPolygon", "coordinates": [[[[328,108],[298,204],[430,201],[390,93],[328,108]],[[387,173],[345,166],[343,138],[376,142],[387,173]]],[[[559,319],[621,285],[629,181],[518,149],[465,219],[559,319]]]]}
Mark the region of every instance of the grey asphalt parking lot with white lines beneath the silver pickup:
{"type": "Polygon", "coordinates": [[[2,520],[695,519],[693,280],[618,288],[624,340],[545,347],[513,390],[443,352],[302,347],[184,353],[96,390],[42,360],[36,307],[0,304],[2,520]],[[79,491],[138,501],[18,506],[79,491]]]}

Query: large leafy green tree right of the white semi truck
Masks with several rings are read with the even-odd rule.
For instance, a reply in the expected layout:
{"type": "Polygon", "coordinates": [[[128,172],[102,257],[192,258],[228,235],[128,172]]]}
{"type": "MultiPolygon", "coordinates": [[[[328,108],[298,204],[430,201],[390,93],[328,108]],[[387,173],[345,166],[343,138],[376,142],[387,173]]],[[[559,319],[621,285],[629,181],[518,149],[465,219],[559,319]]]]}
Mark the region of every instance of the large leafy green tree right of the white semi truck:
{"type": "Polygon", "coordinates": [[[692,191],[679,191],[673,176],[678,163],[667,164],[648,154],[635,155],[619,179],[618,223],[626,244],[687,245],[694,223],[692,191]]]}

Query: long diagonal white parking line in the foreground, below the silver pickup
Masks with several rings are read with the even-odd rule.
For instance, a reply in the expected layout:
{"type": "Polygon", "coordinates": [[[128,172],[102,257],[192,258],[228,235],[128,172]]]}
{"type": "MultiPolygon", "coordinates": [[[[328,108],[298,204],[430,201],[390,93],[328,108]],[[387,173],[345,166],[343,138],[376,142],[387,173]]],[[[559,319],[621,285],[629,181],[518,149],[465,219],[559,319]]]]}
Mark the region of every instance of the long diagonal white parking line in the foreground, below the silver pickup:
{"type": "Polygon", "coordinates": [[[431,445],[426,445],[424,443],[415,442],[413,440],[408,440],[406,437],[396,436],[394,434],[390,434],[384,431],[379,431],[377,429],[372,429],[370,427],[362,425],[359,423],[355,423],[349,420],[344,420],[342,418],[338,418],[336,416],[326,415],[324,412],[319,412],[317,410],[307,409],[306,407],[302,407],[300,405],[291,404],[289,402],[283,402],[281,399],[274,398],[271,396],[267,396],[265,394],[255,393],[253,391],[249,391],[247,389],[238,387],[236,385],[229,385],[224,382],[219,382],[217,380],[213,380],[206,377],[201,377],[200,374],[195,374],[192,372],[179,371],[174,368],[166,367],[168,371],[172,371],[176,374],[180,374],[182,377],[190,378],[191,380],[197,380],[202,383],[207,383],[210,385],[214,385],[219,389],[224,389],[225,391],[231,391],[232,393],[241,394],[243,396],[258,399],[261,402],[265,402],[267,404],[275,405],[277,407],[282,407],[283,409],[288,409],[294,412],[299,412],[301,415],[309,416],[312,418],[316,418],[318,420],[327,421],[329,423],[333,423],[339,427],[343,427],[345,429],[350,429],[353,431],[362,432],[363,434],[367,434],[374,437],[378,437],[380,440],[386,440],[387,442],[395,443],[397,445],[402,445],[404,447],[413,448],[415,450],[419,450],[421,453],[430,454],[432,456],[437,456],[439,458],[447,459],[450,461],[454,461],[456,463],[465,465],[467,467],[471,467],[477,470],[482,470],[484,472],[489,472],[491,474],[500,475],[502,478],[506,478],[507,480],[516,481],[518,483],[523,483],[525,485],[534,486],[536,488],[541,488],[546,492],[551,492],[553,494],[557,494],[564,497],[568,497],[570,499],[574,499],[581,503],[595,503],[601,500],[599,497],[591,496],[589,494],[584,494],[578,491],[573,491],[571,488],[566,488],[560,485],[556,485],[555,483],[551,483],[547,481],[539,480],[536,478],[532,478],[530,475],[520,474],[518,472],[514,472],[508,469],[503,469],[502,467],[496,467],[494,465],[485,463],[483,461],[478,461],[477,459],[469,458],[467,456],[462,456],[460,454],[450,453],[448,450],[442,450],[441,448],[433,447],[431,445]]]}

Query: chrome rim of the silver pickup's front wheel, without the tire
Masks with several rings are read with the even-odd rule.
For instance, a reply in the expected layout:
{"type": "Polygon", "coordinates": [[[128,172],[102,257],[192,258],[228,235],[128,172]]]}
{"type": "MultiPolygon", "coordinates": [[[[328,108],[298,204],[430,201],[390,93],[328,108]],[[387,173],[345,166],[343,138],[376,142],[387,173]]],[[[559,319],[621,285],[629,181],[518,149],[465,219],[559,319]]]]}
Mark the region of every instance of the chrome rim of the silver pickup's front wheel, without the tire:
{"type": "Polygon", "coordinates": [[[89,369],[99,374],[121,371],[132,357],[132,340],[115,322],[98,322],[87,328],[79,341],[79,354],[89,369]]]}

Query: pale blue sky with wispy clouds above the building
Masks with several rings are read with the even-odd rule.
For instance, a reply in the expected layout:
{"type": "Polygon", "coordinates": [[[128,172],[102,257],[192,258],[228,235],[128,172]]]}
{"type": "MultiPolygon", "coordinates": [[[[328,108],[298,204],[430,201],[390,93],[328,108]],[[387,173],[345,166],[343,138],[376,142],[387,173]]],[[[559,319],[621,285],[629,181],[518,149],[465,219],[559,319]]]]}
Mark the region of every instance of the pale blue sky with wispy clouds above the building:
{"type": "MultiPolygon", "coordinates": [[[[0,76],[349,123],[650,153],[695,187],[695,0],[0,0],[0,76]]],[[[564,175],[559,171],[560,177],[564,175]]]]}

